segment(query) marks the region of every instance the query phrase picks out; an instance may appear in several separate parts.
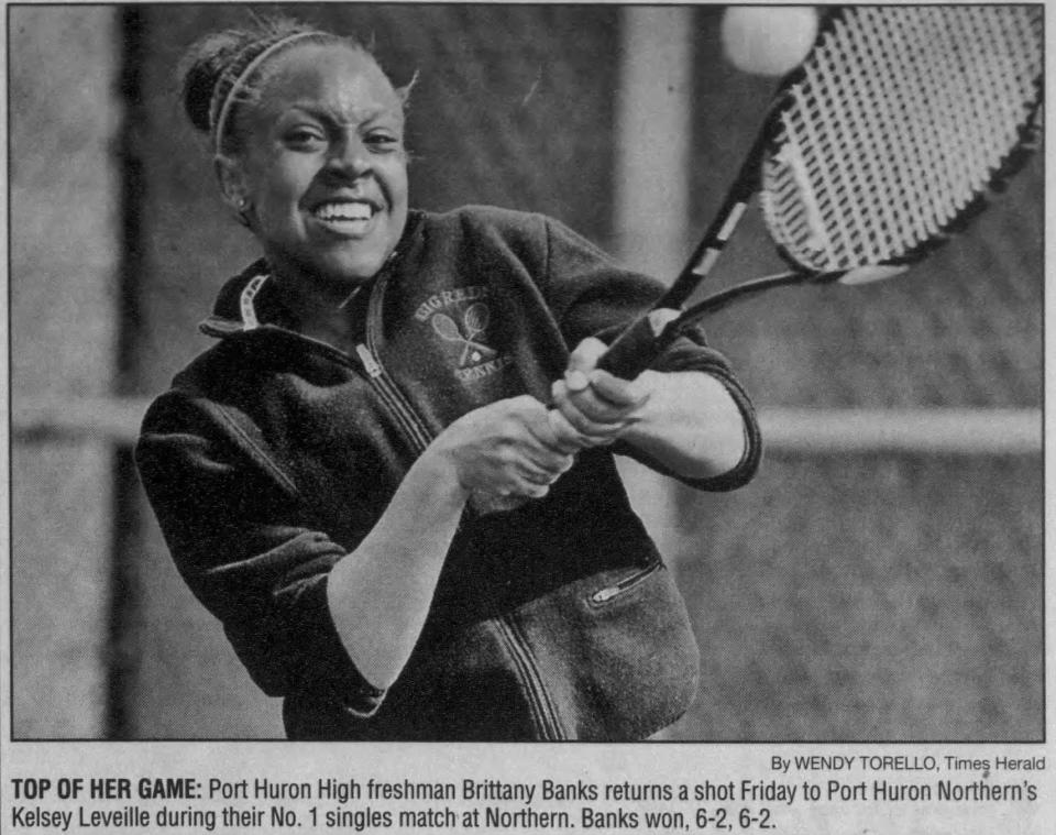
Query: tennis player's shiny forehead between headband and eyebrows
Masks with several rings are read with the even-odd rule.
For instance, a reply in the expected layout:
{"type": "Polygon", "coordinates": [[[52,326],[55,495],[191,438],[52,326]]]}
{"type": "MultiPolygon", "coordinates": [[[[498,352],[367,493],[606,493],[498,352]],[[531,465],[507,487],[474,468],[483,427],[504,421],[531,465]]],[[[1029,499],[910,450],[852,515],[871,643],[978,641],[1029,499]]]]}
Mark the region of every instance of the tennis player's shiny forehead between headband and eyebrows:
{"type": "Polygon", "coordinates": [[[403,113],[399,97],[374,58],[346,44],[301,44],[276,56],[261,87],[260,110],[322,110],[341,121],[403,113]]]}

